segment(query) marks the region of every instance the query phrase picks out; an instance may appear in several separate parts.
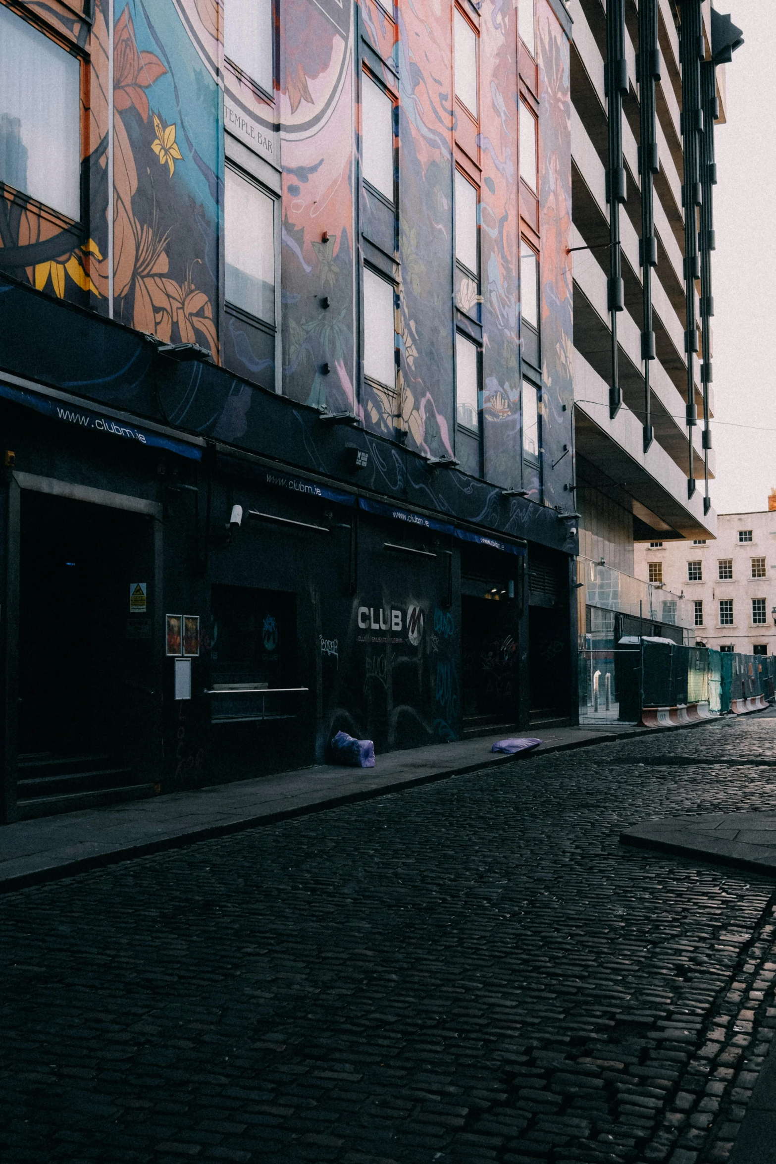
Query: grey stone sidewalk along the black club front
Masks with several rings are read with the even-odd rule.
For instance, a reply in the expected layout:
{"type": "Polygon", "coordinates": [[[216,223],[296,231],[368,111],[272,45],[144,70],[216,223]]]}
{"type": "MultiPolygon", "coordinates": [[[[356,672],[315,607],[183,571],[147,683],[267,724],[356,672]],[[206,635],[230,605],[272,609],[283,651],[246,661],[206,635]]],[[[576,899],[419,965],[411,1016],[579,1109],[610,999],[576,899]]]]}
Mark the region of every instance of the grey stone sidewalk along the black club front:
{"type": "MultiPolygon", "coordinates": [[[[658,731],[617,723],[601,728],[556,728],[542,732],[541,747],[526,754],[655,736],[658,731]]],[[[500,738],[503,734],[390,752],[378,755],[373,768],[316,765],[0,826],[0,893],[513,762],[512,755],[491,752],[491,745],[500,738]]]]}

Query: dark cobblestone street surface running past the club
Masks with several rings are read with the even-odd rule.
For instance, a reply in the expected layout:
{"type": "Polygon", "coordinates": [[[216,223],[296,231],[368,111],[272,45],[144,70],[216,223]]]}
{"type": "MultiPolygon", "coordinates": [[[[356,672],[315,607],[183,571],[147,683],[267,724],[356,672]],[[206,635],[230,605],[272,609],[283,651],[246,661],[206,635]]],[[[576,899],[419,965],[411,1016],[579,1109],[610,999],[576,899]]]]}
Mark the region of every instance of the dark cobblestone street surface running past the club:
{"type": "Polygon", "coordinates": [[[522,759],[9,895],[0,1159],[725,1161],[774,885],[618,835],[776,809],[774,743],[522,759]]]}

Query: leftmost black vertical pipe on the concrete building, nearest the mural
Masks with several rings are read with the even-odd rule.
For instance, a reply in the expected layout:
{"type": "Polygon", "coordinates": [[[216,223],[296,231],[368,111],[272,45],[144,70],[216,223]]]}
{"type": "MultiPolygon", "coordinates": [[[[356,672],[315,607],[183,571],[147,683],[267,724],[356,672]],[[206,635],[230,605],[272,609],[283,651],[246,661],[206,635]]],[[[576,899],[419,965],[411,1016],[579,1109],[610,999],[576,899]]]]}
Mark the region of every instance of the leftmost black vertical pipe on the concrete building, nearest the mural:
{"type": "Polygon", "coordinates": [[[604,84],[608,104],[608,203],[610,278],[607,285],[610,326],[612,331],[612,383],[608,390],[608,413],[612,419],[622,404],[617,349],[617,313],[625,307],[625,285],[620,262],[620,203],[626,200],[622,165],[622,94],[628,90],[628,66],[625,59],[625,0],[608,0],[606,9],[606,68],[604,84]]]}

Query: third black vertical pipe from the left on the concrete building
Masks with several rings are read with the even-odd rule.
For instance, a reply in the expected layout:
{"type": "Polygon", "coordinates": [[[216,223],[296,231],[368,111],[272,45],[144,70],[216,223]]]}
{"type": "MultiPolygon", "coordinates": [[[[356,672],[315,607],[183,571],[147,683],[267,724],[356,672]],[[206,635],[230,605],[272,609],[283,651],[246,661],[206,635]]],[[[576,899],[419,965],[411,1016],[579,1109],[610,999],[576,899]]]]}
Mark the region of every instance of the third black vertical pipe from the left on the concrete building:
{"type": "Polygon", "coordinates": [[[700,24],[700,0],[682,0],[682,136],[684,140],[684,288],[686,320],[684,350],[688,359],[688,497],[696,491],[692,430],[698,423],[695,402],[695,353],[698,350],[696,327],[696,281],[700,278],[698,255],[698,213],[702,205],[700,155],[698,139],[703,134],[703,109],[700,106],[700,62],[704,58],[704,41],[700,24]]]}

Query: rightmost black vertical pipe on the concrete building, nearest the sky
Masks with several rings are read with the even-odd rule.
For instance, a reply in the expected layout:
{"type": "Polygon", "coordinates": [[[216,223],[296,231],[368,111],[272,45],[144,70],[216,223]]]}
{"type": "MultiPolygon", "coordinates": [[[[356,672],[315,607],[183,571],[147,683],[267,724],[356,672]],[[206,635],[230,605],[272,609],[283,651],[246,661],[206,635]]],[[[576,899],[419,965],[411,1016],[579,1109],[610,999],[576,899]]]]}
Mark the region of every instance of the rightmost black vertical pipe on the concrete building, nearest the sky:
{"type": "Polygon", "coordinates": [[[709,449],[711,448],[711,418],[709,416],[709,385],[713,381],[711,367],[711,317],[714,314],[714,297],[711,286],[711,253],[716,249],[714,206],[712,187],[717,185],[717,163],[714,162],[714,121],[719,116],[717,100],[717,77],[714,63],[704,61],[700,65],[700,101],[703,108],[703,134],[700,135],[700,342],[703,346],[703,363],[700,364],[700,383],[703,385],[703,456],[705,494],[703,511],[711,509],[709,497],[709,449]]]}

